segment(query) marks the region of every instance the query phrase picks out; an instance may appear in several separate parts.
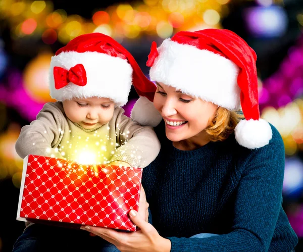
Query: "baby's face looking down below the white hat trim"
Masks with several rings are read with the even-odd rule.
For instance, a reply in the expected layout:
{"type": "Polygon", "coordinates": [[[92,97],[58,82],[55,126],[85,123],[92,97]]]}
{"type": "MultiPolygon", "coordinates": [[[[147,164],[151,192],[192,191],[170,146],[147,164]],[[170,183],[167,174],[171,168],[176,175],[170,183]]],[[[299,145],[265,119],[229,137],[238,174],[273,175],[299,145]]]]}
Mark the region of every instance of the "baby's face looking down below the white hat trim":
{"type": "Polygon", "coordinates": [[[108,123],[115,104],[110,98],[73,98],[63,101],[63,109],[68,119],[84,129],[94,129],[108,123]]]}

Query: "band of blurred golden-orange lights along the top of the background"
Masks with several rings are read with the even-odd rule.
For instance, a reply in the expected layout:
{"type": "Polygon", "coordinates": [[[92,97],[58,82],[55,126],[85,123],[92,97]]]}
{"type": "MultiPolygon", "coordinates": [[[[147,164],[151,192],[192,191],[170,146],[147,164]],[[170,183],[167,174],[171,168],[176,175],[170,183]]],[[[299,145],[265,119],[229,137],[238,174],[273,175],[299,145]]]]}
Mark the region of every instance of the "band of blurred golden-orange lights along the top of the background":
{"type": "Polygon", "coordinates": [[[65,44],[90,32],[104,32],[121,41],[121,38],[136,38],[143,33],[167,38],[175,31],[192,27],[220,28],[228,2],[150,0],[134,6],[119,4],[96,10],[91,20],[85,20],[78,15],[68,16],[64,10],[54,11],[49,1],[4,0],[0,14],[9,20],[15,39],[35,34],[46,44],[55,43],[57,39],[65,44]]]}

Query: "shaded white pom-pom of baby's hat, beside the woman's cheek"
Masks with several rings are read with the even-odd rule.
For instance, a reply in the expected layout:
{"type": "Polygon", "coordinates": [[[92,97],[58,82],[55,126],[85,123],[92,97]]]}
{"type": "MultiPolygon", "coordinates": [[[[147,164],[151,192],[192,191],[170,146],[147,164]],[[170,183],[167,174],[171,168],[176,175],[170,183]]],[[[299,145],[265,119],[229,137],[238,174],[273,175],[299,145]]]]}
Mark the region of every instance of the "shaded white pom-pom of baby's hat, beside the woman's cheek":
{"type": "Polygon", "coordinates": [[[156,127],[162,120],[162,116],[156,110],[154,104],[143,96],[140,96],[134,104],[130,117],[142,126],[151,127],[156,127]]]}

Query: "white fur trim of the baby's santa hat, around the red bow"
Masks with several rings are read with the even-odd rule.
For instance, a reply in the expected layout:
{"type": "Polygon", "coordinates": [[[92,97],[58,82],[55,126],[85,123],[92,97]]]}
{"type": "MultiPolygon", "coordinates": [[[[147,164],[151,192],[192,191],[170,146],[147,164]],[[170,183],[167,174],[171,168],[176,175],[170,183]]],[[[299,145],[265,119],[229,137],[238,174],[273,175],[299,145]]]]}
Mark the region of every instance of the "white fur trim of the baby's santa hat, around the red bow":
{"type": "Polygon", "coordinates": [[[107,97],[114,100],[118,106],[127,103],[132,84],[132,67],[118,57],[97,52],[62,52],[52,57],[49,70],[49,89],[51,96],[57,100],[66,100],[73,97],[107,97]],[[69,70],[77,64],[82,64],[86,71],[87,84],[77,86],[69,83],[67,86],[56,89],[54,82],[54,67],[69,70]]]}

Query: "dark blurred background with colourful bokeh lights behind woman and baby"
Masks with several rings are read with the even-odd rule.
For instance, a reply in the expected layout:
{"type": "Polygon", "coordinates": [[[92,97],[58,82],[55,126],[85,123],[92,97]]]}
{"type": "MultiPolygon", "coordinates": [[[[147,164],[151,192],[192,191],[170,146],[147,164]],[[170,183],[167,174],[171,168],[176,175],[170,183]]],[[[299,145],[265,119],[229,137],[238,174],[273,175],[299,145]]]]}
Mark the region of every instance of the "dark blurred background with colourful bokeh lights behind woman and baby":
{"type": "MultiPolygon", "coordinates": [[[[78,35],[102,32],[122,43],[148,75],[152,41],[212,27],[236,32],[258,55],[261,116],[284,140],[283,207],[300,239],[296,251],[303,251],[303,1],[92,2],[0,1],[0,251],[11,251],[24,228],[16,221],[22,160],[15,142],[21,127],[52,101],[47,74],[57,49],[78,35]]],[[[137,98],[132,89],[126,115],[137,98]]]]}

